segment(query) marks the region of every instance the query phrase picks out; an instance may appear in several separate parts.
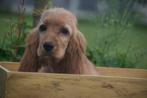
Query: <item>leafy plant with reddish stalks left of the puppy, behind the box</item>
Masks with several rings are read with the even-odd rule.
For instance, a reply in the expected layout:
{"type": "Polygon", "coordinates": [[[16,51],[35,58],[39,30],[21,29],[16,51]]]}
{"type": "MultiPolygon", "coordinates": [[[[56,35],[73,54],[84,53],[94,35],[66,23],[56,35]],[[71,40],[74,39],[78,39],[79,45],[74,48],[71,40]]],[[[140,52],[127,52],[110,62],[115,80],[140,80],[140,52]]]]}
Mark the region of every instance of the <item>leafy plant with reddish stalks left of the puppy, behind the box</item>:
{"type": "Polygon", "coordinates": [[[18,6],[18,17],[16,22],[9,25],[9,32],[5,32],[4,37],[0,40],[0,58],[2,60],[18,61],[24,50],[24,40],[26,37],[24,0],[20,0],[18,6]]]}

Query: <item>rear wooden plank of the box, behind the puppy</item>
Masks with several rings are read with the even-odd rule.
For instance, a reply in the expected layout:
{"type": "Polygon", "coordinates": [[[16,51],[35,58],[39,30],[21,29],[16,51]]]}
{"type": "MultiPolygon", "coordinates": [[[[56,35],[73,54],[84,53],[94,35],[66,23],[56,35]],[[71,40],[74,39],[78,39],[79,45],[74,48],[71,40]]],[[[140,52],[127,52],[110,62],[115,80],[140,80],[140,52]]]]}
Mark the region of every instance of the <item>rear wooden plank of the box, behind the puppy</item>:
{"type": "MultiPolygon", "coordinates": [[[[10,71],[17,71],[20,66],[18,62],[0,62],[0,65],[10,71]]],[[[106,76],[147,78],[147,70],[145,69],[97,67],[97,71],[106,76]]]]}

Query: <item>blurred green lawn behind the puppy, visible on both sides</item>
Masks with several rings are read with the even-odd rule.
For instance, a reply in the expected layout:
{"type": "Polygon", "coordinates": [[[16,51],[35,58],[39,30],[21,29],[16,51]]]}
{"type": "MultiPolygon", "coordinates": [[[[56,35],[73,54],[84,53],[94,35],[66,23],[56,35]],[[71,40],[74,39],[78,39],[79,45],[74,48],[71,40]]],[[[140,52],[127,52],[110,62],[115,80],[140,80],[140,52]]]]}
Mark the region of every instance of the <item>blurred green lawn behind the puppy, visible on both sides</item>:
{"type": "MultiPolygon", "coordinates": [[[[6,32],[10,32],[10,25],[17,22],[16,20],[16,14],[0,13],[0,41],[5,38],[6,32]]],[[[28,32],[31,29],[32,17],[26,16],[25,21],[27,24],[26,26],[29,27],[26,28],[26,31],[28,32]]],[[[131,67],[147,68],[147,28],[135,25],[129,28],[115,27],[113,25],[103,26],[102,23],[99,23],[96,20],[79,20],[78,28],[87,39],[88,49],[94,50],[95,48],[106,48],[105,51],[103,51],[103,56],[109,58],[109,60],[116,56],[116,51],[119,55],[125,53],[127,54],[127,59],[134,62],[130,63],[133,64],[131,67]],[[113,38],[115,36],[117,37],[113,38]],[[105,41],[108,43],[106,46],[104,46],[105,41]]],[[[0,49],[1,48],[2,45],[0,45],[0,49]]],[[[99,58],[95,56],[94,59],[99,58]]],[[[0,60],[5,59],[0,57],[0,60]]],[[[109,63],[107,63],[107,65],[109,66],[109,63]]],[[[113,66],[113,63],[111,64],[110,62],[110,66],[111,65],[113,66]]]]}

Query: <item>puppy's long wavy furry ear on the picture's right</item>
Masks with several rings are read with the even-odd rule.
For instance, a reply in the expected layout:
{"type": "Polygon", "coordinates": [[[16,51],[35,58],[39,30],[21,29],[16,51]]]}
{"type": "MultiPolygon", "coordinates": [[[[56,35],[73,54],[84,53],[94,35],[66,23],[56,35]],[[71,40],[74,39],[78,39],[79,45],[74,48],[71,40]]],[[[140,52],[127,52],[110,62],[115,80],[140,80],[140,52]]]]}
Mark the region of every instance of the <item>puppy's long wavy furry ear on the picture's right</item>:
{"type": "Polygon", "coordinates": [[[86,50],[86,40],[81,32],[76,32],[68,43],[64,57],[64,65],[68,73],[80,74],[82,72],[82,58],[86,50]]]}

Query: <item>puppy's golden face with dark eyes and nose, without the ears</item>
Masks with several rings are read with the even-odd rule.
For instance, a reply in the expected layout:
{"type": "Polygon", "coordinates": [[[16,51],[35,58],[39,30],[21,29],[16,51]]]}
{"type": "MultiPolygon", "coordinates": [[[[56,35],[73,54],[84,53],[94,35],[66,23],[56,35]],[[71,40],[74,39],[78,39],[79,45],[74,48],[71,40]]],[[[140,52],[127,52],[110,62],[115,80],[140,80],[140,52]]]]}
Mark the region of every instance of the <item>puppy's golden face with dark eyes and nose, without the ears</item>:
{"type": "Polygon", "coordinates": [[[74,32],[74,23],[69,13],[49,12],[42,16],[38,26],[39,46],[38,56],[48,56],[61,60],[64,57],[71,36],[74,32]]]}

